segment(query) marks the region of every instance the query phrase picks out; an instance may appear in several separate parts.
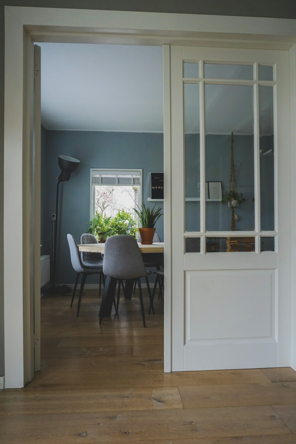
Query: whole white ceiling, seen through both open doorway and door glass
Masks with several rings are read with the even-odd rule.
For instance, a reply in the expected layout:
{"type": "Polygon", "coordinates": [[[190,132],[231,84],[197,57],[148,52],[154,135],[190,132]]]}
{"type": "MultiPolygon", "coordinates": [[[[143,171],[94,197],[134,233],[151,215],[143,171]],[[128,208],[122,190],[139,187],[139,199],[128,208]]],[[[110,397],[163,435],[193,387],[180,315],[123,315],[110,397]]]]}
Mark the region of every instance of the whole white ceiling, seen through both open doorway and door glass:
{"type": "MultiPolygon", "coordinates": [[[[161,47],[39,45],[41,119],[45,128],[163,131],[161,47]]],[[[224,68],[219,64],[208,65],[208,76],[217,78],[224,68]]],[[[244,65],[226,65],[226,68],[230,78],[239,79],[241,75],[246,78],[241,72],[246,68],[244,65]]],[[[185,132],[199,132],[198,84],[185,85],[184,101],[185,132]]],[[[260,135],[273,134],[272,113],[272,87],[260,87],[260,135]]],[[[205,131],[208,134],[230,134],[231,131],[253,134],[252,86],[207,84],[205,131]]]]}

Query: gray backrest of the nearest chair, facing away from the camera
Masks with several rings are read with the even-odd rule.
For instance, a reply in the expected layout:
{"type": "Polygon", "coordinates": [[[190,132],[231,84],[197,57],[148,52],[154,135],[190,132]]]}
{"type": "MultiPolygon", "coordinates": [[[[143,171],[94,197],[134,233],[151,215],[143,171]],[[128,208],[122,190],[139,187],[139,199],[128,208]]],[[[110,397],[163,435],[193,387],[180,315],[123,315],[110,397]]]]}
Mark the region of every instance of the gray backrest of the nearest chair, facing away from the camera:
{"type": "Polygon", "coordinates": [[[135,238],[119,234],[106,240],[103,273],[116,279],[148,276],[135,238]]]}

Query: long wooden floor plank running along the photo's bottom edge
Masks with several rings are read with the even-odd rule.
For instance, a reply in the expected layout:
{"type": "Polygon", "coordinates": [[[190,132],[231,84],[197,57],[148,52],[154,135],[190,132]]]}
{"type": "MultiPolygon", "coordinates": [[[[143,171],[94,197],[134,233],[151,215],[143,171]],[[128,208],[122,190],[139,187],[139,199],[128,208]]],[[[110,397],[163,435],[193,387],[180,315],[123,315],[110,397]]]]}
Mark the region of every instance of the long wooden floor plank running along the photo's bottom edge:
{"type": "Polygon", "coordinates": [[[290,432],[270,406],[6,415],[1,421],[2,442],[20,443],[21,436],[22,444],[76,444],[82,436],[84,443],[139,443],[148,436],[151,440],[193,440],[290,432]]]}

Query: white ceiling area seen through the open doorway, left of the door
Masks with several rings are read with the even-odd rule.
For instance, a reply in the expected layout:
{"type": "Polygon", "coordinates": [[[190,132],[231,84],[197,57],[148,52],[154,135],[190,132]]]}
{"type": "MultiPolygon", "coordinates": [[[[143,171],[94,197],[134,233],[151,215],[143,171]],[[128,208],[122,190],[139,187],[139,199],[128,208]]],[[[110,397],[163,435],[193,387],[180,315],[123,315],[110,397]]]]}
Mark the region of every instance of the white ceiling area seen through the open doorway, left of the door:
{"type": "Polygon", "coordinates": [[[45,128],[163,131],[161,47],[39,45],[45,128]]]}

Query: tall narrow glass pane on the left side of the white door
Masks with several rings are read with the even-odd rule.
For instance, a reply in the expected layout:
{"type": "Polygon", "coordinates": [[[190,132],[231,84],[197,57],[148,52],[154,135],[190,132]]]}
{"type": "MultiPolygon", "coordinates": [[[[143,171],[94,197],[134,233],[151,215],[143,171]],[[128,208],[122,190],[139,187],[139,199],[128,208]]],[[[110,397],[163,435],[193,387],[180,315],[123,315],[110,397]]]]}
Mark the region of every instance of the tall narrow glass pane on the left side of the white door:
{"type": "Polygon", "coordinates": [[[200,85],[184,83],[185,230],[200,231],[200,85]]]}

